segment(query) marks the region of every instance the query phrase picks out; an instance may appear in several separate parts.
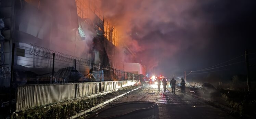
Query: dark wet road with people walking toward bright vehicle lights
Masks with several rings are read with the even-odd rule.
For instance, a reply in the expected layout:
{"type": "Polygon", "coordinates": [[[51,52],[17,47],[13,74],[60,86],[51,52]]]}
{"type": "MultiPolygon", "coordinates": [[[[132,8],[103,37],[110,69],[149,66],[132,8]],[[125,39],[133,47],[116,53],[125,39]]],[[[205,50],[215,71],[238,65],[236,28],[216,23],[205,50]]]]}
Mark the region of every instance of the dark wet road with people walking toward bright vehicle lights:
{"type": "Polygon", "coordinates": [[[191,95],[183,95],[176,90],[176,94],[171,93],[171,89],[167,88],[167,92],[158,92],[156,85],[142,87],[136,91],[119,98],[110,105],[98,110],[101,111],[93,118],[107,118],[114,115],[128,113],[132,110],[142,109],[152,106],[152,104],[126,104],[118,107],[112,107],[115,104],[123,102],[146,101],[155,102],[158,106],[152,109],[141,110],[135,113],[116,117],[122,119],[233,119],[224,111],[210,106],[191,95]]]}

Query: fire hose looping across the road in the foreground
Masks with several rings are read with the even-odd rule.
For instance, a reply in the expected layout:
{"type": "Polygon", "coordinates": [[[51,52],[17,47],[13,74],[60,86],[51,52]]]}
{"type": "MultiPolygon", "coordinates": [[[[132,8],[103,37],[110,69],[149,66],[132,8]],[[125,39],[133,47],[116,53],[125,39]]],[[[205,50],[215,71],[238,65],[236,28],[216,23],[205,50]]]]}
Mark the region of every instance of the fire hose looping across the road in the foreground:
{"type": "Polygon", "coordinates": [[[132,102],[123,102],[123,103],[118,103],[118,104],[115,104],[109,108],[106,108],[104,110],[101,110],[99,111],[98,113],[95,113],[93,114],[92,116],[89,117],[89,119],[95,117],[96,115],[99,115],[100,113],[102,113],[103,111],[107,110],[107,109],[110,109],[110,108],[113,108],[113,107],[118,107],[118,106],[122,106],[122,105],[127,105],[127,104],[154,104],[150,107],[147,107],[147,108],[139,108],[139,109],[136,109],[136,110],[132,110],[132,111],[129,111],[127,113],[123,113],[123,114],[119,114],[119,115],[114,115],[114,116],[110,116],[110,117],[106,117],[106,118],[102,118],[102,119],[111,119],[111,118],[116,118],[116,117],[120,117],[120,116],[125,116],[127,114],[131,114],[131,113],[136,113],[136,112],[139,112],[139,111],[143,111],[143,110],[148,110],[148,109],[152,109],[154,107],[157,107],[157,103],[155,102],[147,102],[147,101],[132,101],[132,102]]]}

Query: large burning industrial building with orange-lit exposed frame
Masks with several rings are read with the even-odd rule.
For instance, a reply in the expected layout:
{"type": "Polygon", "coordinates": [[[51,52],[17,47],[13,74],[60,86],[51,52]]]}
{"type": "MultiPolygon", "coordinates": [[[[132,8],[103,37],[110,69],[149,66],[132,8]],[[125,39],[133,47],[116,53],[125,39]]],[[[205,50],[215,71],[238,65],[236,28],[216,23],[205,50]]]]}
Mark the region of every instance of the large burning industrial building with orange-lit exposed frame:
{"type": "Polygon", "coordinates": [[[14,68],[22,69],[15,72],[14,78],[24,75],[20,79],[26,80],[24,84],[29,82],[27,75],[35,75],[37,78],[33,80],[37,81],[48,76],[54,77],[55,81],[58,78],[59,82],[69,82],[60,76],[75,70],[65,77],[74,76],[73,81],[104,80],[102,69],[110,66],[124,70],[126,57],[135,57],[120,40],[115,27],[103,17],[97,1],[4,1],[0,8],[0,77],[3,87],[10,85],[12,64],[14,68]],[[12,57],[12,52],[15,57],[12,57]],[[61,59],[55,61],[55,66],[53,54],[61,59]],[[94,75],[88,75],[92,72],[94,75]]]}

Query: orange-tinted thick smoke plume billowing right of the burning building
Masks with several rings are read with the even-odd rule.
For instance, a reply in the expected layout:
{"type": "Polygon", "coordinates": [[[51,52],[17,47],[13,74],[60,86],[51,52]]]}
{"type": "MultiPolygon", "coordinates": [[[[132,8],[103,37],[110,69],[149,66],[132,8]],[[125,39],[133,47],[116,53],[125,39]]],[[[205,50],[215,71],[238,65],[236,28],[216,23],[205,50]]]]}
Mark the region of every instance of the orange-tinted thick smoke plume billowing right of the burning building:
{"type": "Polygon", "coordinates": [[[152,73],[170,75],[178,68],[176,55],[202,50],[208,40],[208,18],[197,0],[101,0],[104,17],[152,73]],[[184,53],[184,52],[183,52],[184,53]],[[159,68],[162,67],[162,68],[159,68]]]}

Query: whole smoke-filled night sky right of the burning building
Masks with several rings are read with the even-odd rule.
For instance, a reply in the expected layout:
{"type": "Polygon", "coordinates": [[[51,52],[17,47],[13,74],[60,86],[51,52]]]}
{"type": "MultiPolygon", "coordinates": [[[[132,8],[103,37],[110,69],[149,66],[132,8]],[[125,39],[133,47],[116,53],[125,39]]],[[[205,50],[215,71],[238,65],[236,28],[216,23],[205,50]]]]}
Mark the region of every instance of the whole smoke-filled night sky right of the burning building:
{"type": "MultiPolygon", "coordinates": [[[[184,70],[243,55],[245,49],[256,52],[255,0],[102,0],[101,4],[104,17],[151,74],[180,76],[184,70]]],[[[255,70],[254,57],[249,55],[255,70]]],[[[219,66],[243,60],[244,56],[219,66]]],[[[207,71],[222,69],[228,70],[217,73],[246,73],[245,62],[207,71]]]]}

